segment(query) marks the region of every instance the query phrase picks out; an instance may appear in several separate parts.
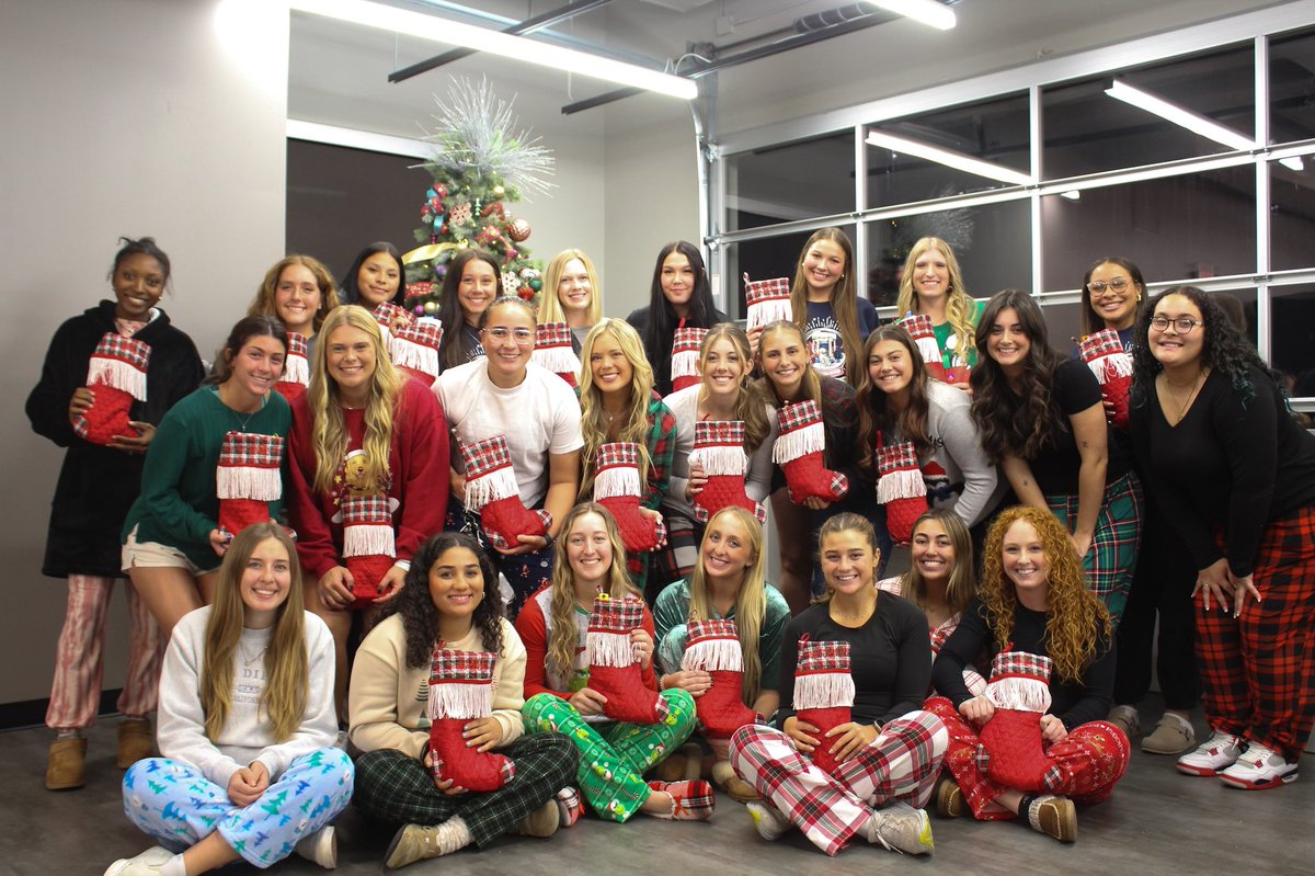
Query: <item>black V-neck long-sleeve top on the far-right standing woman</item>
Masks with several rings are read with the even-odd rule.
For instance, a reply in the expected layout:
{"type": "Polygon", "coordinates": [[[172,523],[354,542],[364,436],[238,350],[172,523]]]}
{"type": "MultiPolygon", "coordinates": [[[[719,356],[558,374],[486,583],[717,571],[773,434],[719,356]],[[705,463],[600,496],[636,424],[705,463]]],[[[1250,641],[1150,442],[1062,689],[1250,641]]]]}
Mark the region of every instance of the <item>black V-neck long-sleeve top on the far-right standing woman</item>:
{"type": "Polygon", "coordinates": [[[1248,377],[1251,399],[1211,371],[1176,426],[1155,392],[1130,418],[1139,467],[1195,568],[1227,556],[1239,576],[1255,571],[1268,523],[1315,505],[1315,435],[1287,414],[1268,375],[1251,368],[1248,377]],[[1216,526],[1226,551],[1215,545],[1216,526]]]}

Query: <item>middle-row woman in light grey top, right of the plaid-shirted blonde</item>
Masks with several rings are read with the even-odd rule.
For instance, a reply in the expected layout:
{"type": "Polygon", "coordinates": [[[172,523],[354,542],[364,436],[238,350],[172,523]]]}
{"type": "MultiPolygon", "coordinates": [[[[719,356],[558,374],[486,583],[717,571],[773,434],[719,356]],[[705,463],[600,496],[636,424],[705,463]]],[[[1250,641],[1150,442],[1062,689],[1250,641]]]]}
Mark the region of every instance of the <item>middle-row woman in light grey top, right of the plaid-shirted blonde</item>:
{"type": "Polygon", "coordinates": [[[667,547],[656,556],[658,581],[688,577],[694,571],[704,526],[694,521],[694,496],[707,477],[689,466],[694,449],[694,424],[743,421],[744,452],[750,455],[744,492],[753,501],[767,500],[772,489],[772,443],[776,441],[776,410],[750,388],[752,370],[748,335],[739,326],[722,322],[704,335],[698,349],[700,383],[667,396],[676,417],[676,450],[672,456],[671,489],[663,501],[667,547]]]}

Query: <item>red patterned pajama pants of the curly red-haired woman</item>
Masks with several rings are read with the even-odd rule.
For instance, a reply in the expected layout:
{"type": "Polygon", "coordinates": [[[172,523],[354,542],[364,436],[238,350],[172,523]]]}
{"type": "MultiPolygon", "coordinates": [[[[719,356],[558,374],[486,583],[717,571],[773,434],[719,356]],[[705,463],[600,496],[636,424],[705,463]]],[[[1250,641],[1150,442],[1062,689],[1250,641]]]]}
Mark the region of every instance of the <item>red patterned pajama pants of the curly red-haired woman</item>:
{"type": "MultiPolygon", "coordinates": [[[[995,784],[980,768],[977,746],[981,737],[959,709],[945,697],[931,697],[927,712],[940,718],[949,731],[945,769],[964,791],[968,808],[978,821],[1005,821],[1018,815],[995,798],[1009,788],[995,784]]],[[[1123,731],[1106,721],[1091,721],[1069,731],[1064,742],[1045,748],[1045,756],[1059,767],[1059,779],[1051,793],[1070,797],[1073,802],[1098,804],[1114,793],[1114,784],[1128,769],[1131,746],[1123,731]]]]}

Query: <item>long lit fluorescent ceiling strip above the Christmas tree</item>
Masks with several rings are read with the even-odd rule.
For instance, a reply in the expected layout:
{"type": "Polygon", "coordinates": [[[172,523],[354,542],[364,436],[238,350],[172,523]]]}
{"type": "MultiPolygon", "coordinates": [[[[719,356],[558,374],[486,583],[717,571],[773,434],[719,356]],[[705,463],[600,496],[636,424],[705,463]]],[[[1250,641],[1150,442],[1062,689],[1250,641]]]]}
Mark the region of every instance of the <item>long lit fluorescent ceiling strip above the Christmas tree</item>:
{"type": "Polygon", "coordinates": [[[633,85],[672,97],[693,100],[698,85],[692,79],[673,76],[656,70],[646,70],[622,61],[590,55],[586,51],[565,49],[525,37],[476,28],[460,21],[400,9],[367,0],[291,0],[288,8],[313,16],[348,21],[366,28],[401,33],[422,39],[433,39],[451,46],[466,46],[513,61],[568,70],[583,76],[633,85]]]}

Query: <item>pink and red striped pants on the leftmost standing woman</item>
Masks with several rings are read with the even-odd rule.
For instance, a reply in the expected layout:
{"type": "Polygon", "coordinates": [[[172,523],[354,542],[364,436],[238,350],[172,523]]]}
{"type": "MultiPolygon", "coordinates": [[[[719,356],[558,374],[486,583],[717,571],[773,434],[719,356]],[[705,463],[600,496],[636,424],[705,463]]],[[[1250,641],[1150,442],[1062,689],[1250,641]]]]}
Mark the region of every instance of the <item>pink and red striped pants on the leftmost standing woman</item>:
{"type": "MultiPolygon", "coordinates": [[[[55,730],[85,730],[96,722],[100,681],[105,668],[105,610],[114,592],[114,579],[99,575],[68,576],[68,609],[55,650],[55,680],[50,688],[46,726],[55,730]]],[[[155,709],[160,679],[160,634],[155,618],[125,583],[128,596],[128,675],[118,696],[118,710],[141,717],[155,709]]]]}

